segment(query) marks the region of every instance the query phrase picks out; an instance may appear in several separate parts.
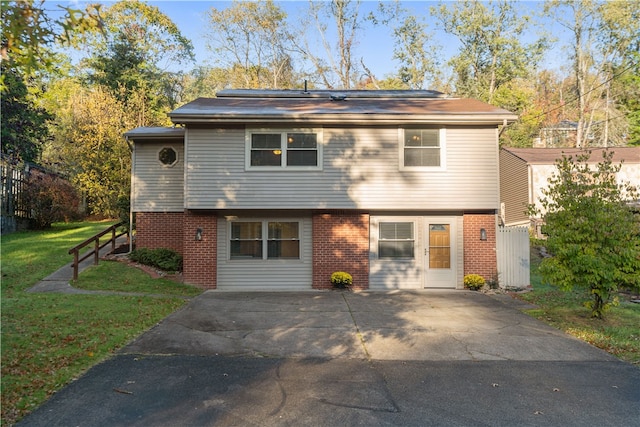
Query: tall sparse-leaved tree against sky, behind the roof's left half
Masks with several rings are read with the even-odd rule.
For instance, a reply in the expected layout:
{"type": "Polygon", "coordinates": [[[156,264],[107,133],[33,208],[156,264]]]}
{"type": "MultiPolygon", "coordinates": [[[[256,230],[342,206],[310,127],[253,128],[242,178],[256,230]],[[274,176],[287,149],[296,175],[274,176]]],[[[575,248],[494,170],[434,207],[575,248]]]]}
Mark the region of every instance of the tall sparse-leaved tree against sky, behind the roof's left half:
{"type": "Polygon", "coordinates": [[[231,74],[234,87],[291,86],[292,51],[287,45],[293,36],[287,30],[287,14],[273,1],[234,1],[226,9],[212,7],[208,18],[209,49],[231,74]]]}

